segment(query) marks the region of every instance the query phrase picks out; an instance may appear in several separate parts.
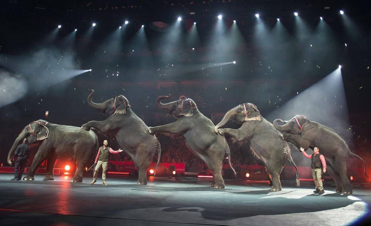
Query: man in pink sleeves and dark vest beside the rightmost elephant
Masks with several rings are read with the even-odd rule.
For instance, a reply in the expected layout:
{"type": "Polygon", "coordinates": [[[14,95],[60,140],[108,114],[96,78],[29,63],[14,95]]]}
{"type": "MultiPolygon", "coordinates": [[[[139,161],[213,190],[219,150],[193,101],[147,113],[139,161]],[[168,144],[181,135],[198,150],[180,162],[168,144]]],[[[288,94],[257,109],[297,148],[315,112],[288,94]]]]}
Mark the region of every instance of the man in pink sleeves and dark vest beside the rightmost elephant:
{"type": "Polygon", "coordinates": [[[305,157],[308,159],[312,159],[312,176],[314,180],[314,184],[316,185],[316,190],[314,190],[314,193],[323,194],[325,193],[324,187],[322,185],[322,167],[324,169],[324,173],[326,173],[326,161],[325,156],[322,154],[319,154],[318,147],[314,147],[313,154],[308,155],[305,153],[304,148],[301,147],[300,151],[303,153],[305,157]]]}

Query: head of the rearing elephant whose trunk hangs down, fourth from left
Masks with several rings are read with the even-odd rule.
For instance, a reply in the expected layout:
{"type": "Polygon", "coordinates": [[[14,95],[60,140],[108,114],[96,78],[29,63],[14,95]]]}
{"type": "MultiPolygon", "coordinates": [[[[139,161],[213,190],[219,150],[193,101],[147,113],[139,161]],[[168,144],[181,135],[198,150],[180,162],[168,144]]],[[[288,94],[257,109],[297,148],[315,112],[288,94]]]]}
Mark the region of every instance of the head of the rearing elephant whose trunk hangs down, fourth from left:
{"type": "Polygon", "coordinates": [[[224,126],[228,121],[235,120],[238,123],[244,123],[246,121],[256,120],[261,121],[262,117],[255,104],[244,103],[237,107],[230,109],[223,117],[221,122],[214,128],[215,133],[218,133],[218,129],[224,126]]]}

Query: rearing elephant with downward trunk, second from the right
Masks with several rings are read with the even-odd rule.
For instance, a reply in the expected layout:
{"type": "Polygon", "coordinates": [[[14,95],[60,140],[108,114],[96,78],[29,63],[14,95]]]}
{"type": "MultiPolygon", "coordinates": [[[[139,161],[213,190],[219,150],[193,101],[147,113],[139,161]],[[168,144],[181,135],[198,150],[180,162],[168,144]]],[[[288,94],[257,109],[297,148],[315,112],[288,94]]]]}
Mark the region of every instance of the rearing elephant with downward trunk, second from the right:
{"type": "Polygon", "coordinates": [[[265,164],[272,180],[272,191],[282,190],[279,175],[288,160],[296,170],[296,186],[300,186],[298,168],[292,160],[289,144],[282,140],[281,133],[260,114],[252,103],[240,104],[230,109],[214,128],[221,136],[229,135],[234,142],[247,142],[253,153],[265,164]],[[220,129],[230,120],[241,125],[239,129],[220,129]]]}

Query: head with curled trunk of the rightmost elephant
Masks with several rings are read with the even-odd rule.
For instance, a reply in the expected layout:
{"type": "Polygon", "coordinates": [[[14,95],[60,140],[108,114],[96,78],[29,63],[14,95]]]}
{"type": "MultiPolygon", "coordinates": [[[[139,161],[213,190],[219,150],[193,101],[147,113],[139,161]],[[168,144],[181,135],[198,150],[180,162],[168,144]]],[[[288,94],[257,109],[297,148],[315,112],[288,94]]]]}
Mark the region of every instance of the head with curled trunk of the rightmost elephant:
{"type": "Polygon", "coordinates": [[[273,122],[273,126],[278,129],[280,132],[286,132],[291,134],[300,134],[303,130],[312,129],[313,124],[311,121],[306,119],[305,116],[296,115],[288,121],[282,121],[281,119],[276,119],[273,122]],[[282,126],[278,124],[284,123],[282,126]]]}

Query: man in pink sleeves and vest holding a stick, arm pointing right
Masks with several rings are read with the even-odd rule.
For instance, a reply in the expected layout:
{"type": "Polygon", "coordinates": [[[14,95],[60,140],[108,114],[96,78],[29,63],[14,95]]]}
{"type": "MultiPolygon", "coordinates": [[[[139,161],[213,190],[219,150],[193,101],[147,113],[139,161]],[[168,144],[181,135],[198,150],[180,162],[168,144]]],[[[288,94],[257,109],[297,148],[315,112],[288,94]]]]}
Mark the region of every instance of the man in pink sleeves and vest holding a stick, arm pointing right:
{"type": "Polygon", "coordinates": [[[108,185],[108,183],[106,183],[106,173],[107,173],[107,168],[108,168],[108,155],[109,153],[118,154],[122,152],[121,148],[118,149],[117,151],[114,151],[112,150],[111,147],[108,147],[107,145],[108,145],[108,141],[104,140],[103,146],[99,147],[98,154],[96,155],[95,162],[94,162],[96,163],[96,166],[94,169],[93,181],[90,183],[91,185],[96,182],[98,171],[101,168],[102,168],[103,185],[108,185]]]}

